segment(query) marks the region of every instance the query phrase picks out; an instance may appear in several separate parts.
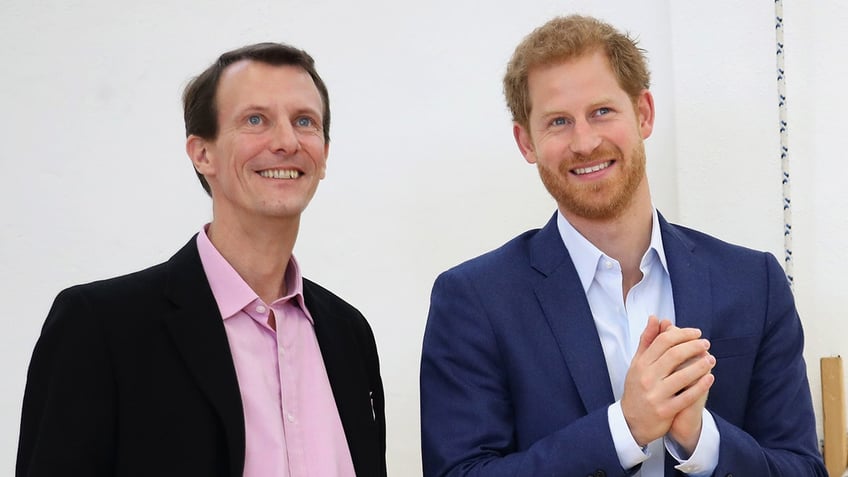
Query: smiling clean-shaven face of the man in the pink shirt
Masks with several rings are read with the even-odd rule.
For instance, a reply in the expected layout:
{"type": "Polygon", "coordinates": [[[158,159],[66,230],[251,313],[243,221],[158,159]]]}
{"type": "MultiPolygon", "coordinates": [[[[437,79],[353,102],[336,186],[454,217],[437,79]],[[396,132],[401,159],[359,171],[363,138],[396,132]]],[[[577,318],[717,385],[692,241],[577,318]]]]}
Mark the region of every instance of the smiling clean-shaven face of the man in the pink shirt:
{"type": "Polygon", "coordinates": [[[215,102],[217,137],[186,142],[211,188],[214,221],[299,219],[329,150],[312,78],[297,66],[239,61],[222,73],[215,102]]]}

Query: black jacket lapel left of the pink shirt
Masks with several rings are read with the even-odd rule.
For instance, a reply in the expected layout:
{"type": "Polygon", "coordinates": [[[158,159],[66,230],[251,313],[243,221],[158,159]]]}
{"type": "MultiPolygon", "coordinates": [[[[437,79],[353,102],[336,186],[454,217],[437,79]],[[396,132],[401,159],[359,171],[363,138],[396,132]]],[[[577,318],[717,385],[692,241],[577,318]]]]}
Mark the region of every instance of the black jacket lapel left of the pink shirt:
{"type": "Polygon", "coordinates": [[[244,412],[224,322],[209,288],[192,238],[168,261],[165,294],[173,313],[165,318],[191,374],[223,422],[230,450],[230,474],[244,467],[244,412]]]}

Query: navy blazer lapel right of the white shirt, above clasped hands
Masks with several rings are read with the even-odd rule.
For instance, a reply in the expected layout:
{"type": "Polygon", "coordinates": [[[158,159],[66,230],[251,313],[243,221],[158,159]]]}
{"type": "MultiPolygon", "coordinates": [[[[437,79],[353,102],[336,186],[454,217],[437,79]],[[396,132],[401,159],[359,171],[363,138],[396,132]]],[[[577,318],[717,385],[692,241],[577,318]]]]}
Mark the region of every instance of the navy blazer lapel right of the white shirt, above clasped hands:
{"type": "Polygon", "coordinates": [[[709,264],[698,257],[695,245],[677,227],[662,215],[659,219],[676,326],[699,328],[709,338],[713,314],[709,264]]]}

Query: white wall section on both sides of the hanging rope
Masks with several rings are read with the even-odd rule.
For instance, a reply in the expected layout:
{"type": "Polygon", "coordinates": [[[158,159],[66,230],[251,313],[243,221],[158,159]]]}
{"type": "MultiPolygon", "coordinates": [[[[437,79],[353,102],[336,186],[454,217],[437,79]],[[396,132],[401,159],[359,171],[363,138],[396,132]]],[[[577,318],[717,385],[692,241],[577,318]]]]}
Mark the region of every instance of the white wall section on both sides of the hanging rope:
{"type": "MultiPolygon", "coordinates": [[[[783,261],[774,4],[669,4],[679,219],[783,261]]],[[[785,4],[794,290],[821,437],[819,360],[848,354],[848,10],[836,0],[785,4]]]]}

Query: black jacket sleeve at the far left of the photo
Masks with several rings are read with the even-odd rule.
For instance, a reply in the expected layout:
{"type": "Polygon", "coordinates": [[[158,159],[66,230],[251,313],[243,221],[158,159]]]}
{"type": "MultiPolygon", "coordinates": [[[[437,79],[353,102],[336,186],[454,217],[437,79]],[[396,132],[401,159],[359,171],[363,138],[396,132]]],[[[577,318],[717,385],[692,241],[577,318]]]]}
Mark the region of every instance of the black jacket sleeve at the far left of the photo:
{"type": "Polygon", "coordinates": [[[69,289],[53,303],[30,362],[15,475],[113,475],[115,439],[104,331],[79,289],[69,289]]]}

